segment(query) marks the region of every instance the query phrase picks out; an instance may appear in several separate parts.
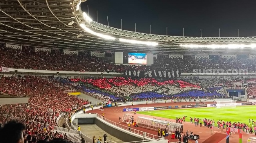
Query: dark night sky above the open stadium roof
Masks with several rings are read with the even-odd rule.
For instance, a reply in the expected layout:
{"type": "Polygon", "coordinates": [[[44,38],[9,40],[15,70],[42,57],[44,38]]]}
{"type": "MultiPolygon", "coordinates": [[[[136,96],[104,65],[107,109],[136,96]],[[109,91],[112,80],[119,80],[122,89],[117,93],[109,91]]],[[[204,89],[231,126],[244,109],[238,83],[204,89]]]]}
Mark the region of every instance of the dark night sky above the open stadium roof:
{"type": "Polygon", "coordinates": [[[256,36],[256,0],[87,0],[82,10],[98,22],[124,30],[166,35],[256,36]]]}

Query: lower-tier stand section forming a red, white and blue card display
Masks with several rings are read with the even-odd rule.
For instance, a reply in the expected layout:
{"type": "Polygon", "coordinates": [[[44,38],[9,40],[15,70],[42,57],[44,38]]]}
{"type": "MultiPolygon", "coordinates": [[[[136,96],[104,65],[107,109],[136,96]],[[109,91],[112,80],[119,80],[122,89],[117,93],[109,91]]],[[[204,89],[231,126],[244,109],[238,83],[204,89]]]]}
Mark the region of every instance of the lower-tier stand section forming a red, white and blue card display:
{"type": "Polygon", "coordinates": [[[145,100],[173,98],[225,98],[222,80],[185,79],[164,80],[153,78],[133,79],[127,77],[98,79],[58,79],[100,98],[111,100],[145,100]],[[207,83],[205,86],[203,83],[207,83]]]}

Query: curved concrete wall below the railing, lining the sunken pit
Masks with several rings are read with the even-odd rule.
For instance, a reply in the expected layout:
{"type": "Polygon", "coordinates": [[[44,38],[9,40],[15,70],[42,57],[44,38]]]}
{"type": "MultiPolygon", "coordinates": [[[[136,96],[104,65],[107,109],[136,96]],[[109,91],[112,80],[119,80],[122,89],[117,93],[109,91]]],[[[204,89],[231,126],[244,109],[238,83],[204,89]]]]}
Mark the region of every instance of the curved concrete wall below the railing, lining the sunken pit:
{"type": "Polygon", "coordinates": [[[134,135],[127,134],[126,132],[122,132],[118,128],[111,127],[109,125],[106,125],[104,122],[101,120],[98,120],[98,118],[94,119],[94,124],[96,124],[98,127],[100,127],[102,130],[107,131],[107,134],[111,134],[112,136],[125,141],[125,142],[130,142],[130,141],[141,141],[142,138],[138,138],[134,135]]]}

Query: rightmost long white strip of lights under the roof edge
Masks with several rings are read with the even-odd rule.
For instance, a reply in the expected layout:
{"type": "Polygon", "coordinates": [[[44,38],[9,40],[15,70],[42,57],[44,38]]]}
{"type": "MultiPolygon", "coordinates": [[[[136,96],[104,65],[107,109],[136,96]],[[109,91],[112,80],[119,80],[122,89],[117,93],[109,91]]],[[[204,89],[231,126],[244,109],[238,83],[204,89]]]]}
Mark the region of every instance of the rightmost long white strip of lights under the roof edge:
{"type": "Polygon", "coordinates": [[[256,44],[225,44],[225,45],[196,45],[196,44],[181,44],[181,47],[188,48],[256,48],[256,44]]]}

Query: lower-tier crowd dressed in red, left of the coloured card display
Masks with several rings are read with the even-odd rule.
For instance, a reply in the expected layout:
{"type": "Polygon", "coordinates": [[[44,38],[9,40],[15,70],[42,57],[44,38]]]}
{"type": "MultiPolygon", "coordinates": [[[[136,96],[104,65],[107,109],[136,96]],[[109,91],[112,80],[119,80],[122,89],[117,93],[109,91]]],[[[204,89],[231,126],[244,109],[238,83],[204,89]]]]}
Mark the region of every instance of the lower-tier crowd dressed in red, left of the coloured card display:
{"type": "Polygon", "coordinates": [[[1,91],[7,94],[28,96],[28,104],[0,105],[0,123],[16,119],[27,126],[26,136],[38,136],[39,140],[65,138],[64,134],[53,133],[53,125],[58,126],[57,117],[61,113],[71,113],[82,108],[86,101],[76,96],[70,96],[54,79],[40,77],[1,77],[1,91]],[[2,84],[4,82],[4,84],[2,84]],[[18,83],[15,88],[10,88],[18,83]],[[37,124],[36,122],[40,122],[37,124]],[[43,124],[48,124],[48,126],[43,124]]]}

